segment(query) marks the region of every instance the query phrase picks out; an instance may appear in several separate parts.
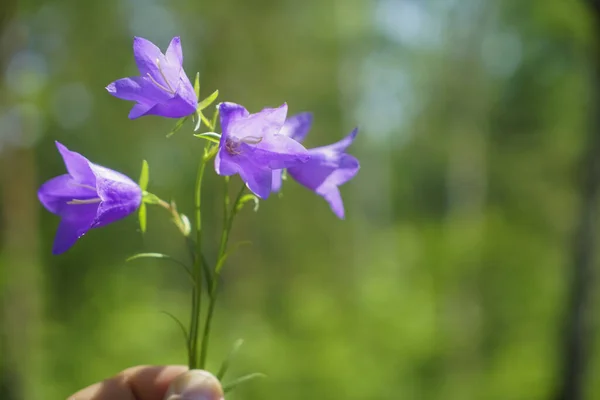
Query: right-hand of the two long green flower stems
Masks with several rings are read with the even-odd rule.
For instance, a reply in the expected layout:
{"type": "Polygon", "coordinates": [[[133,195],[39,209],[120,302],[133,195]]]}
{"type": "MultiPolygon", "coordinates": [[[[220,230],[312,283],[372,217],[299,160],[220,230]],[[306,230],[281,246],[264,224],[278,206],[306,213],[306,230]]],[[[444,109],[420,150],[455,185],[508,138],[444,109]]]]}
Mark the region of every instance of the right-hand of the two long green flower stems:
{"type": "Polygon", "coordinates": [[[223,207],[223,230],[221,232],[221,245],[219,246],[219,256],[217,258],[217,266],[215,268],[211,290],[210,290],[210,298],[208,303],[208,313],[206,315],[206,323],[204,324],[204,333],[202,335],[202,349],[200,353],[200,368],[204,369],[206,366],[206,359],[208,357],[208,340],[210,337],[210,328],[212,325],[212,318],[215,312],[215,305],[217,303],[217,286],[219,283],[219,276],[221,274],[222,267],[222,258],[225,256],[227,252],[227,242],[229,241],[229,233],[231,232],[231,228],[233,226],[233,218],[237,214],[237,207],[244,193],[245,186],[242,186],[240,189],[235,202],[233,203],[233,208],[229,211],[230,199],[229,199],[229,178],[225,178],[224,185],[224,207],[223,207]]]}

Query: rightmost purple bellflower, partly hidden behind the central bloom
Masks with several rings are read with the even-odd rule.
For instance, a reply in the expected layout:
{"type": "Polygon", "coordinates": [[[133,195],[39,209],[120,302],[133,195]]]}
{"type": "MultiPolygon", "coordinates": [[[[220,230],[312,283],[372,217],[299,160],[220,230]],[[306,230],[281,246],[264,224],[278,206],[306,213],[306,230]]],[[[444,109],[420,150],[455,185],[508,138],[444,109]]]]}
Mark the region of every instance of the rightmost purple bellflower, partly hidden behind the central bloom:
{"type": "MultiPolygon", "coordinates": [[[[302,142],[311,125],[311,113],[296,114],[288,118],[281,134],[302,142]]],[[[352,144],[357,133],[358,128],[337,143],[308,149],[308,162],[287,169],[288,175],[296,182],[327,200],[333,213],[340,219],[344,219],[344,203],[338,186],[354,178],[360,169],[358,160],[346,154],[346,149],[352,144]]],[[[274,192],[281,189],[281,173],[273,171],[274,192]]]]}

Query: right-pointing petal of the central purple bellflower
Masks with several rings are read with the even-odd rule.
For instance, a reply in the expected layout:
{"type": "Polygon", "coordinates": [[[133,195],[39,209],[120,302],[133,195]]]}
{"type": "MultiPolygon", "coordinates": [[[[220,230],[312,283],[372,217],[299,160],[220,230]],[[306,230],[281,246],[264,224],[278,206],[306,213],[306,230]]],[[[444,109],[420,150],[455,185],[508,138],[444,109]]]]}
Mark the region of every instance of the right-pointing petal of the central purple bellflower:
{"type": "MultiPolygon", "coordinates": [[[[246,146],[242,146],[241,151],[244,151],[246,146]]],[[[252,158],[258,165],[264,165],[271,169],[282,169],[301,165],[307,162],[310,156],[304,146],[294,139],[283,135],[273,135],[265,137],[254,147],[252,158]]]]}

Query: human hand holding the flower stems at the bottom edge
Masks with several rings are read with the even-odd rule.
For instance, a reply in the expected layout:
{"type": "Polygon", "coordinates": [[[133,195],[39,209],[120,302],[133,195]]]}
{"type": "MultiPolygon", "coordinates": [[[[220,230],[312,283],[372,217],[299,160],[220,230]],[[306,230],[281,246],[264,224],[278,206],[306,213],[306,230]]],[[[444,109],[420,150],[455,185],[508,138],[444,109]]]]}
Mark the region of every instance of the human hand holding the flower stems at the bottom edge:
{"type": "Polygon", "coordinates": [[[185,366],[137,366],[95,383],[68,400],[223,400],[221,384],[185,366]],[[167,393],[168,392],[168,393],[167,393]],[[168,397],[167,397],[168,395],[168,397]]]}

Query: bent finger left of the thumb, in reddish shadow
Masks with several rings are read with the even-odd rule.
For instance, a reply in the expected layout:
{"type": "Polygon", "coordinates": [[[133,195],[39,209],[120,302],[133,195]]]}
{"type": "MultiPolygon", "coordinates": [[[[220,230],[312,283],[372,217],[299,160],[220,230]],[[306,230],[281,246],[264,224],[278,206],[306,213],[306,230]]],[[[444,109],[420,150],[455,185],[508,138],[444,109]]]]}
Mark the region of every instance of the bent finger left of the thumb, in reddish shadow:
{"type": "Polygon", "coordinates": [[[132,367],[80,390],[68,400],[163,400],[173,379],[185,371],[183,365],[132,367]]]}

